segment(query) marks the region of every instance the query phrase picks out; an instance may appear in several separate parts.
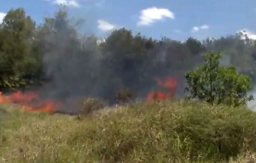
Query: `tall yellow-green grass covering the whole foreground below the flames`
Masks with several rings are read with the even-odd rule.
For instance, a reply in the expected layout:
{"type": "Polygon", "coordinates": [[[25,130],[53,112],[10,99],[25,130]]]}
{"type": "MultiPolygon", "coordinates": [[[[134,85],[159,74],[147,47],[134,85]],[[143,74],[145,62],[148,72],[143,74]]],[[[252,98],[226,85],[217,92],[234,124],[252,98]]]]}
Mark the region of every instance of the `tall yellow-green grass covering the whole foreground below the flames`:
{"type": "Polygon", "coordinates": [[[255,162],[256,115],[239,107],[161,101],[76,116],[2,105],[0,162],[255,162]]]}

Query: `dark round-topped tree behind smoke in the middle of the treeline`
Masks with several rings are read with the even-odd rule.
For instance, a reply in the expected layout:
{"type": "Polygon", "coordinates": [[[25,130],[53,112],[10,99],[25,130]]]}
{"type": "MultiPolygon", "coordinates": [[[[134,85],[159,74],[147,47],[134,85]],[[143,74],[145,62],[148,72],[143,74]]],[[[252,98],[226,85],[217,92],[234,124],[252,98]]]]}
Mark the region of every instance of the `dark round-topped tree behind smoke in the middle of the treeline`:
{"type": "Polygon", "coordinates": [[[148,72],[148,67],[153,65],[155,45],[155,40],[145,38],[140,33],[132,35],[132,32],[125,28],[113,31],[105,42],[100,44],[104,74],[111,76],[107,77],[110,81],[106,82],[109,86],[105,87],[114,94],[126,88],[138,89],[141,79],[148,72]],[[106,70],[108,73],[105,73],[106,70]]]}

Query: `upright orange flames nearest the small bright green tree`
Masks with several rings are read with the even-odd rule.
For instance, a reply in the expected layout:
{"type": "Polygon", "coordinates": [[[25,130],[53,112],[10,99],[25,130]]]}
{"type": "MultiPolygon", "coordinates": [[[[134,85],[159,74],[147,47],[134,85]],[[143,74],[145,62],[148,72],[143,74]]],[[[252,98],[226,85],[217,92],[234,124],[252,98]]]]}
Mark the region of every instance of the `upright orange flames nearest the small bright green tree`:
{"type": "Polygon", "coordinates": [[[167,98],[171,98],[174,97],[175,92],[176,92],[176,88],[177,88],[177,80],[175,78],[172,78],[170,76],[167,76],[166,79],[161,82],[158,78],[153,78],[157,84],[161,87],[161,88],[169,88],[168,92],[165,91],[151,91],[150,93],[148,93],[147,95],[147,99],[146,102],[150,102],[152,100],[161,100],[161,99],[167,99],[167,98]]]}

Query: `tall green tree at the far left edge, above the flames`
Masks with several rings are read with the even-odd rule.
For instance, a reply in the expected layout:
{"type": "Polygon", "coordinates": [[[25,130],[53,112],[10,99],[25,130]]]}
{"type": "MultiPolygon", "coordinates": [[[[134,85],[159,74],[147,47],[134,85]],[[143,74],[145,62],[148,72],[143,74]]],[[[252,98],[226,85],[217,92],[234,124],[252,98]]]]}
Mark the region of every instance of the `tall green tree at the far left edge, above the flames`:
{"type": "Polygon", "coordinates": [[[32,46],[34,25],[21,8],[10,10],[4,17],[0,29],[0,91],[20,87],[28,74],[40,71],[40,59],[33,53],[37,49],[32,46]]]}

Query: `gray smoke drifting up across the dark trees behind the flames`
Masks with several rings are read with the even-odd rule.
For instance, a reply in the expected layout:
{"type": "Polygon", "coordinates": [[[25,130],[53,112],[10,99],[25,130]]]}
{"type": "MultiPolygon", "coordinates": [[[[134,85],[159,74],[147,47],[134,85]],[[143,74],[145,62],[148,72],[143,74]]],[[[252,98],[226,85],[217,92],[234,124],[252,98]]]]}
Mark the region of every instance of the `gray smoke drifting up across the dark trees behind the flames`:
{"type": "Polygon", "coordinates": [[[178,41],[130,36],[125,29],[114,32],[99,43],[93,35],[81,37],[65,11],[46,19],[36,39],[43,78],[49,79],[39,88],[40,96],[61,101],[60,109],[71,113],[79,111],[76,102],[86,97],[113,104],[116,93],[124,89],[132,90],[134,99],[145,100],[150,91],[158,89],[153,78],[166,76],[177,79],[176,95],[184,95],[184,74],[201,61],[199,54],[189,58],[190,50],[178,41]],[[124,36],[128,42],[122,41],[124,36]]]}

